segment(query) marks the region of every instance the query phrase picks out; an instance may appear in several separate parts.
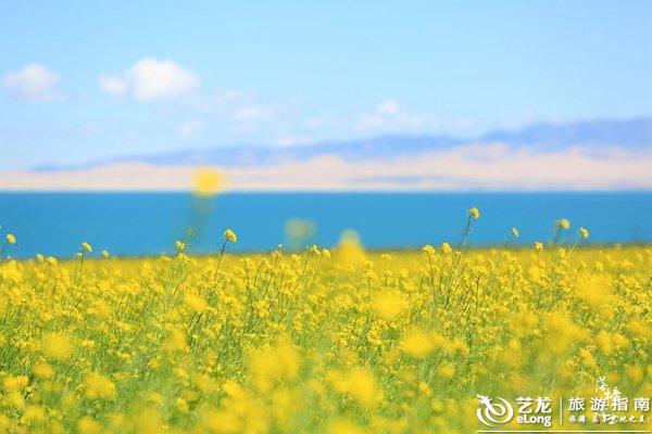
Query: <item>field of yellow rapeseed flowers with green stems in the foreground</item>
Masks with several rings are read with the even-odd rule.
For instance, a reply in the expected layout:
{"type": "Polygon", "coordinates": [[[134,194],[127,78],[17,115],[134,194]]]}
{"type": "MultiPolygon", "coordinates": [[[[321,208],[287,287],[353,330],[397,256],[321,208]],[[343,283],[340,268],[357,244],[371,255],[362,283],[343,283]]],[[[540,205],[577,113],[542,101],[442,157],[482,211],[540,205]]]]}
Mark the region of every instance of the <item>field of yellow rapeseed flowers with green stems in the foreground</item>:
{"type": "Polygon", "coordinates": [[[355,240],[3,260],[0,432],[469,433],[477,394],[652,395],[651,247],[355,240]]]}

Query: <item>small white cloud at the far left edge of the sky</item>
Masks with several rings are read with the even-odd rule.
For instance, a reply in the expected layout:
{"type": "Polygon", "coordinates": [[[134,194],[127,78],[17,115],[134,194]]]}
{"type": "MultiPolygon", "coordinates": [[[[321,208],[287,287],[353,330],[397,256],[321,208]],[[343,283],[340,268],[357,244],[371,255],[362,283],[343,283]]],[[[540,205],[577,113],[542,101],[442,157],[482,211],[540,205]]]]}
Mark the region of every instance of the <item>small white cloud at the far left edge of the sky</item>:
{"type": "Polygon", "coordinates": [[[51,101],[63,97],[55,90],[59,76],[48,68],[29,64],[21,71],[9,73],[2,87],[9,95],[25,101],[51,101]]]}

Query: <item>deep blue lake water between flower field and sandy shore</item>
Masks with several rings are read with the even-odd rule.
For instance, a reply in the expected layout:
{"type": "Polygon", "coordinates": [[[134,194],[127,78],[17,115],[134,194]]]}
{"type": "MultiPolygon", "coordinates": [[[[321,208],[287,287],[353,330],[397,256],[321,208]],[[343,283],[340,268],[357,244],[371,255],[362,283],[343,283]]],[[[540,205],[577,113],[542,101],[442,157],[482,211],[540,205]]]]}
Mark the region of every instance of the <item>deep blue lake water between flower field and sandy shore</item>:
{"type": "Polygon", "coordinates": [[[0,232],[17,237],[14,257],[71,256],[83,240],[116,255],[160,254],[188,227],[199,230],[196,252],[215,250],[227,227],[239,237],[233,250],[260,251],[286,243],[286,221],[301,218],[316,226],[309,243],[333,246],[354,229],[367,247],[418,247],[456,242],[472,205],[482,213],[474,245],[502,244],[513,226],[519,243],[546,241],[562,217],[569,235],[584,226],[592,243],[652,242],[652,193],[0,193],[0,232]]]}

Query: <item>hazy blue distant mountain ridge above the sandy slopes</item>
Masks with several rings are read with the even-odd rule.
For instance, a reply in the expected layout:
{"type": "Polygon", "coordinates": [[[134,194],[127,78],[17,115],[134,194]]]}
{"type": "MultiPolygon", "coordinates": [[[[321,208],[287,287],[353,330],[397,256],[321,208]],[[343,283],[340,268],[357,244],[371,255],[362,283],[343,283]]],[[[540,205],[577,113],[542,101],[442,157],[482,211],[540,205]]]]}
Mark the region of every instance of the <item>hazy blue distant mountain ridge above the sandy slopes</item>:
{"type": "MultiPolygon", "coordinates": [[[[538,151],[555,151],[569,146],[619,146],[632,152],[652,150],[652,117],[538,124],[517,130],[497,130],[476,139],[461,139],[450,136],[396,135],[349,141],[324,141],[287,148],[240,145],[195,149],[156,155],[124,156],[73,168],[118,163],[143,163],[156,166],[217,165],[222,167],[242,167],[273,165],[288,161],[305,161],[328,155],[354,162],[417,155],[453,149],[466,143],[496,142],[515,148],[531,148],[538,151]]],[[[63,168],[37,168],[41,171],[60,169],[63,168]]]]}

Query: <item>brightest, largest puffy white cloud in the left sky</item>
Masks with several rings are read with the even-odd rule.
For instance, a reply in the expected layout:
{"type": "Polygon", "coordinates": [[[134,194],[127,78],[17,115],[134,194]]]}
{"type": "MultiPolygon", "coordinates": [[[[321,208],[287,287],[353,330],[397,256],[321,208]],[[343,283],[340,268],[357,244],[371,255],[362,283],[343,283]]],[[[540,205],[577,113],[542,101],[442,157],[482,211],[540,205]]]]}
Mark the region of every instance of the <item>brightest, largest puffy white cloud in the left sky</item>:
{"type": "Polygon", "coordinates": [[[99,85],[112,95],[129,94],[138,101],[152,101],[186,95],[199,86],[199,79],[173,61],[146,58],[122,77],[100,76],[99,85]]]}

